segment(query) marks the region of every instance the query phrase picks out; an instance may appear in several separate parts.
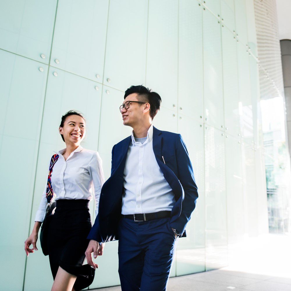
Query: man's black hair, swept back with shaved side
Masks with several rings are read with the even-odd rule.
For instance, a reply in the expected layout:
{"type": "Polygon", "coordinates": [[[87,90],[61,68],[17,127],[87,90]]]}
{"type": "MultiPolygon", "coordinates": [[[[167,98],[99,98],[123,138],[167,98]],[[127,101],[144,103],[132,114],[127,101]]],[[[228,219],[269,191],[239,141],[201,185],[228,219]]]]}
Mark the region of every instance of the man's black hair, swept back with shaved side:
{"type": "Polygon", "coordinates": [[[161,96],[156,93],[152,92],[152,89],[146,88],[143,85],[138,86],[130,86],[124,94],[124,99],[132,93],[137,93],[137,99],[141,102],[150,103],[150,117],[152,120],[156,116],[158,110],[160,109],[160,105],[162,102],[161,96]]]}

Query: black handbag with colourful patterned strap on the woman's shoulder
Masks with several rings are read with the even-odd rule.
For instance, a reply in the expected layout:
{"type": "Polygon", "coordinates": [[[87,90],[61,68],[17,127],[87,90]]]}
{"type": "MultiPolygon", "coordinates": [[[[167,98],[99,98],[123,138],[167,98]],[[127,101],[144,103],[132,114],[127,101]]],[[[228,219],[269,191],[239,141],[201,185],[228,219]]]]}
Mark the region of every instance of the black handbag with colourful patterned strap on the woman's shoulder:
{"type": "Polygon", "coordinates": [[[49,248],[48,248],[48,229],[49,229],[49,223],[52,220],[52,215],[54,214],[54,209],[56,208],[56,202],[51,203],[54,191],[52,188],[52,181],[51,181],[51,176],[52,176],[52,171],[53,171],[53,167],[54,164],[56,163],[56,161],[58,160],[58,155],[53,155],[50,165],[49,165],[49,175],[47,178],[47,209],[46,209],[46,213],[45,213],[45,219],[42,222],[41,225],[41,230],[40,230],[40,246],[42,249],[42,253],[44,255],[48,255],[49,254],[49,248]]]}

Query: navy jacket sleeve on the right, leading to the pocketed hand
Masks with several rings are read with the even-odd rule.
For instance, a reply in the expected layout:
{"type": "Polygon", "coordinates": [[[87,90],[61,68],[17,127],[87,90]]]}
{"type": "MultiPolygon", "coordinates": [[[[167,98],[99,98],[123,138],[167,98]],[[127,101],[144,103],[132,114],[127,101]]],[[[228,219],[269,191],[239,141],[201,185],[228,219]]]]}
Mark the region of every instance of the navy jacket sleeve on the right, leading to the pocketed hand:
{"type": "Polygon", "coordinates": [[[191,213],[195,209],[196,200],[198,198],[198,189],[195,183],[193,168],[188,151],[181,134],[177,135],[175,149],[178,179],[184,189],[184,200],[182,201],[181,214],[177,220],[171,223],[171,227],[175,228],[182,235],[188,221],[190,220],[191,213]]]}

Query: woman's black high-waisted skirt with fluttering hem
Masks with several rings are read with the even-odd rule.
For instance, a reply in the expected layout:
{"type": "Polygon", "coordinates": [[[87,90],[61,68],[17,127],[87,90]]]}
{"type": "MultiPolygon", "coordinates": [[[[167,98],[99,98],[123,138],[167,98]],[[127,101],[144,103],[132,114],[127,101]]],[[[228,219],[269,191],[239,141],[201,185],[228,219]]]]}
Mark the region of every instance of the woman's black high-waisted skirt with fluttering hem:
{"type": "Polygon", "coordinates": [[[95,270],[83,265],[85,251],[91,230],[91,218],[87,199],[56,200],[56,210],[48,229],[49,263],[55,279],[60,266],[70,274],[77,276],[75,290],[88,287],[95,270]]]}

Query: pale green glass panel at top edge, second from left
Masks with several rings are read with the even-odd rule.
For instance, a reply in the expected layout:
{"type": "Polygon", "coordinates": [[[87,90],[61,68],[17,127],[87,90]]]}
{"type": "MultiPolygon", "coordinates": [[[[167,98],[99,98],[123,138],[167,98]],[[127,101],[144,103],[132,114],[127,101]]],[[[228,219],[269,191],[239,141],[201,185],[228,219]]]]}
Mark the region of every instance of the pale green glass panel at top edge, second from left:
{"type": "Polygon", "coordinates": [[[101,83],[107,15],[108,0],[59,1],[50,65],[101,83]]]}

